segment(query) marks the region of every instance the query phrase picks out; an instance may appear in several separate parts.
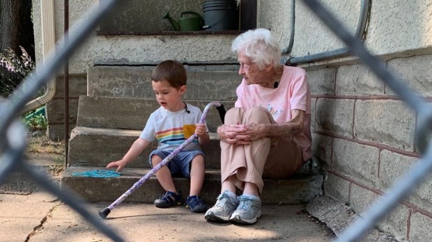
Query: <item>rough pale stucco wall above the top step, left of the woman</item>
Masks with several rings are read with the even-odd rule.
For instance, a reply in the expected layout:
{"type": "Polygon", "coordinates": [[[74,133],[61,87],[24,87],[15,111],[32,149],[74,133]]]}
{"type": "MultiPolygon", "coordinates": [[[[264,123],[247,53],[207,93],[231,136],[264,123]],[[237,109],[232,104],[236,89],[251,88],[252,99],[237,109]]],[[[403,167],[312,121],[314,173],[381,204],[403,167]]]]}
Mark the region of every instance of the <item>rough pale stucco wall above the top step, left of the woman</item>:
{"type": "MultiPolygon", "coordinates": [[[[40,8],[38,0],[33,0],[35,9],[40,8]]],[[[77,0],[69,6],[70,34],[77,26],[80,17],[86,17],[95,0],[77,0]]],[[[55,1],[56,38],[63,35],[63,1],[55,1]]],[[[40,12],[34,13],[40,19],[40,12]]],[[[40,23],[35,21],[36,54],[40,61],[42,45],[40,23]],[[39,25],[39,26],[38,26],[39,25]]],[[[85,73],[87,67],[95,63],[122,60],[123,63],[157,63],[169,58],[189,62],[235,62],[229,46],[235,35],[97,35],[96,31],[83,43],[69,61],[69,72],[85,73]]]]}

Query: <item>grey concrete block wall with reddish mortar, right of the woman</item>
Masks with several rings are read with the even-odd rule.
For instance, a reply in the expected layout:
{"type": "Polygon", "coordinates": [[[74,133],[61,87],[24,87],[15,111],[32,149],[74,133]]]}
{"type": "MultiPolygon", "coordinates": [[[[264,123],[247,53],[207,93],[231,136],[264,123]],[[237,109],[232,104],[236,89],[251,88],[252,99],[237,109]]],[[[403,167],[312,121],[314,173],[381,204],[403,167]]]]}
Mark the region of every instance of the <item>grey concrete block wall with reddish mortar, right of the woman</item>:
{"type": "MultiPolygon", "coordinates": [[[[432,100],[432,55],[394,58],[387,68],[432,100]]],[[[315,67],[316,68],[316,67],[315,67]]],[[[362,64],[307,70],[314,159],[327,170],[325,194],[362,216],[418,161],[417,114],[362,64]]],[[[401,241],[432,239],[432,179],[379,223],[401,241]]]]}

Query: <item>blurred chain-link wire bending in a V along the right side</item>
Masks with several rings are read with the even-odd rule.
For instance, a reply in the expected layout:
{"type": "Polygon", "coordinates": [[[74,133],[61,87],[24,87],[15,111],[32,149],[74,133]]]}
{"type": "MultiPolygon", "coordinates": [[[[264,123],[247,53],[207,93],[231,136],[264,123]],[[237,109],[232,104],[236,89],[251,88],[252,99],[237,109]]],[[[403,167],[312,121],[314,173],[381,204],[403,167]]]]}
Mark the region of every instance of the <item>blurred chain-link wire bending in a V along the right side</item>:
{"type": "Polygon", "coordinates": [[[358,241],[385,215],[392,211],[403,197],[415,189],[424,177],[432,170],[432,106],[422,97],[410,90],[401,79],[389,72],[384,63],[373,57],[362,42],[355,40],[346,27],[330,13],[329,10],[316,0],[303,0],[304,3],[323,21],[350,49],[351,54],[358,56],[382,81],[385,82],[408,106],[417,112],[417,127],[415,143],[422,154],[422,159],[404,175],[400,182],[387,191],[386,195],[375,202],[364,213],[362,219],[357,220],[339,236],[338,241],[358,241]]]}

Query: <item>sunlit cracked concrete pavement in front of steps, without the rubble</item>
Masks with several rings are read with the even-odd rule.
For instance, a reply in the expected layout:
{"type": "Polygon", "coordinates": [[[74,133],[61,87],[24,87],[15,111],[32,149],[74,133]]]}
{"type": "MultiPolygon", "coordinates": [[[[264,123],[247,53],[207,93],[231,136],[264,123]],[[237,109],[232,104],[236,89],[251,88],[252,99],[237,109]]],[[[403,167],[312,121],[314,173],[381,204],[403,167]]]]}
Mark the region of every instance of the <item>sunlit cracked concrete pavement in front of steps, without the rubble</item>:
{"type": "MultiPolygon", "coordinates": [[[[36,188],[0,195],[0,241],[111,241],[78,213],[36,188]]],[[[94,214],[106,203],[86,204],[94,214]]],[[[157,209],[123,202],[104,222],[125,241],[332,241],[302,205],[265,206],[256,225],[209,223],[185,207],[157,209]]]]}

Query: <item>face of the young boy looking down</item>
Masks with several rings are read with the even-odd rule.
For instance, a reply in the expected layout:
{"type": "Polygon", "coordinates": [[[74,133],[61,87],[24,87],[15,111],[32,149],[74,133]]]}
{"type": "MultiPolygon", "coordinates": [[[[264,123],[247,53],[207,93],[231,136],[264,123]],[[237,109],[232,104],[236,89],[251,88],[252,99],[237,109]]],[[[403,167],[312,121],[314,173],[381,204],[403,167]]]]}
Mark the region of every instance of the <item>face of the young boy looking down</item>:
{"type": "Polygon", "coordinates": [[[151,86],[157,102],[163,108],[171,112],[185,108],[181,98],[186,91],[186,86],[181,86],[179,89],[173,88],[168,81],[151,81],[151,86]]]}

